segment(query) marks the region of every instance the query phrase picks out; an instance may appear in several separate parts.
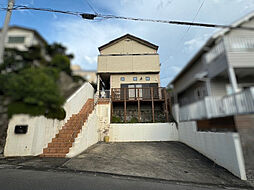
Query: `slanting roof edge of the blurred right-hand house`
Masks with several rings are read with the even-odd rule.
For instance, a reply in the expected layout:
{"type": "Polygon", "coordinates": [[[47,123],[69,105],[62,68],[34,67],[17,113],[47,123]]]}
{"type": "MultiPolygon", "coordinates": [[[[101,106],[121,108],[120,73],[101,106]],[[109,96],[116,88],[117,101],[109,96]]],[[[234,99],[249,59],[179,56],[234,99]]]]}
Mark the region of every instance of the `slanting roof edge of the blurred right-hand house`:
{"type": "MultiPolygon", "coordinates": [[[[254,12],[251,12],[248,15],[244,16],[243,18],[235,21],[233,24],[231,24],[231,26],[233,27],[240,26],[252,18],[254,18],[254,12]]],[[[216,39],[218,39],[221,36],[224,36],[231,30],[232,29],[222,29],[213,34],[169,84],[173,84],[175,81],[177,81],[203,55],[203,53],[206,52],[206,49],[210,47],[215,42],[216,39]]]]}

